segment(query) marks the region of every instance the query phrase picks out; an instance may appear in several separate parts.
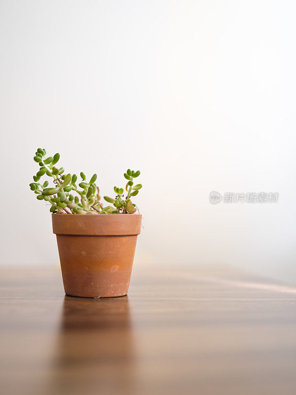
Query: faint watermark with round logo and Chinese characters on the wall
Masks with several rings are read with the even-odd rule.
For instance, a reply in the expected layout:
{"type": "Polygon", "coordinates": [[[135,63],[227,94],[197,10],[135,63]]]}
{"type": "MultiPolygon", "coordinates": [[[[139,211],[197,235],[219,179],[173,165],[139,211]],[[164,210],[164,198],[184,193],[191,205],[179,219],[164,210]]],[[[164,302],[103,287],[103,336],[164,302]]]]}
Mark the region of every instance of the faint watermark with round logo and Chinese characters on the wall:
{"type": "Polygon", "coordinates": [[[277,203],[279,194],[277,192],[225,192],[222,196],[217,191],[210,193],[210,203],[277,203]]]}

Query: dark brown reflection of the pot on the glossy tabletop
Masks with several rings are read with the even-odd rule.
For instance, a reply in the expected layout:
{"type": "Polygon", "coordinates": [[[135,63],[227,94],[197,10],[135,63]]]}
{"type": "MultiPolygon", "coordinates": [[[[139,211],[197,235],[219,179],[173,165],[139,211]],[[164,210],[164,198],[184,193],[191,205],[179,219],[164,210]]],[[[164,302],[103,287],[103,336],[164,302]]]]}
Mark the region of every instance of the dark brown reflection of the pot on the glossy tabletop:
{"type": "Polygon", "coordinates": [[[50,389],[54,394],[130,394],[135,350],[127,296],[65,296],[50,389]]]}

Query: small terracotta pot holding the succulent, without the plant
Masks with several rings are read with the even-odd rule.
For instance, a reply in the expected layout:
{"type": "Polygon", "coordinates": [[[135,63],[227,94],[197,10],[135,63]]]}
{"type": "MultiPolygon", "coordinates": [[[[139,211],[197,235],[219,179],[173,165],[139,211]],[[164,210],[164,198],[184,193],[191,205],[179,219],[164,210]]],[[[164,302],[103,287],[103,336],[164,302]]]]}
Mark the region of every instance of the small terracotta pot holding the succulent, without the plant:
{"type": "Polygon", "coordinates": [[[52,214],[65,293],[126,295],[141,221],[141,214],[52,214]]]}

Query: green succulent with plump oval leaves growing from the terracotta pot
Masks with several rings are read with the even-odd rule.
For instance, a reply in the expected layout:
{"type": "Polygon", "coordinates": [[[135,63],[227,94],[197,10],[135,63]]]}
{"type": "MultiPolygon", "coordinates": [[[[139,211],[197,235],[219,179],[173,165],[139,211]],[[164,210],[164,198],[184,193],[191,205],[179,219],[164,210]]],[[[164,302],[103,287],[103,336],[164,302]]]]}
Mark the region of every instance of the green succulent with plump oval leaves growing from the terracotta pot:
{"type": "Polygon", "coordinates": [[[131,197],[138,195],[142,188],[141,184],[134,185],[134,178],[140,175],[140,171],[128,169],[124,173],[127,184],[123,195],[123,188],[114,187],[115,197],[104,196],[104,199],[113,206],[103,206],[101,203],[100,190],[96,185],[97,174],[94,174],[89,181],[86,181],[84,173],[80,173],[81,182],[76,185],[76,174],[64,173],[64,167],[57,167],[56,163],[60,159],[60,154],[53,157],[45,157],[45,149],[38,148],[34,160],[40,168],[33,176],[34,182],[30,188],[37,195],[38,200],[45,200],[50,204],[51,213],[67,214],[133,214],[137,210],[136,204],[131,201],[131,197]],[[48,186],[48,180],[43,183],[40,178],[47,175],[53,181],[52,186],[48,186]],[[80,188],[80,190],[78,189],[80,188]],[[76,195],[74,196],[74,193],[76,195]]]}

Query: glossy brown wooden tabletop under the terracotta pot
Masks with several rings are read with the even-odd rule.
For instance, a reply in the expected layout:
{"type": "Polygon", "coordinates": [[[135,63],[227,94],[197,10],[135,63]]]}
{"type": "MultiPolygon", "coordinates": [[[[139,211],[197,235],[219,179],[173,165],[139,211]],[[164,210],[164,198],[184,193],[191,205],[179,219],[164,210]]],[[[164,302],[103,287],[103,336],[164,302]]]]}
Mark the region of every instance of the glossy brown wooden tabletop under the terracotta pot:
{"type": "Polygon", "coordinates": [[[128,296],[0,272],[3,395],[295,395],[296,289],[230,269],[135,267],[128,296]]]}

